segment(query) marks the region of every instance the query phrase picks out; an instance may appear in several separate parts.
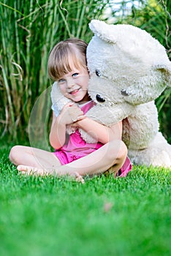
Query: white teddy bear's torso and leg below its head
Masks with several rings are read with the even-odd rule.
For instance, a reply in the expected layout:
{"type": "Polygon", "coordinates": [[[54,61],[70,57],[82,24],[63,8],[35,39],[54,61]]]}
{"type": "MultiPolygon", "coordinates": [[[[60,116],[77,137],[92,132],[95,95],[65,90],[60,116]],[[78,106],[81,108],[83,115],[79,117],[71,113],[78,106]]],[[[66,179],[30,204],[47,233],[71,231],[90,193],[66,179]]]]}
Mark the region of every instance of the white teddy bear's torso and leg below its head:
{"type": "Polygon", "coordinates": [[[171,145],[159,132],[158,112],[154,102],[138,105],[128,121],[128,154],[132,162],[136,165],[171,167],[171,145]]]}

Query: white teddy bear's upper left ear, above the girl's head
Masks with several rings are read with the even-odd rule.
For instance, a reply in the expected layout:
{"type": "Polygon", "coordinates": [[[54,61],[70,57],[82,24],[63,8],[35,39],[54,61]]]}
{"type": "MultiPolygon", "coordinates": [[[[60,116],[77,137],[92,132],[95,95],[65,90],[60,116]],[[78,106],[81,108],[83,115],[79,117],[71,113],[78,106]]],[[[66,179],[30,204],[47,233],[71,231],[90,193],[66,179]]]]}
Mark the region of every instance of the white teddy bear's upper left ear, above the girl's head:
{"type": "Polygon", "coordinates": [[[89,23],[89,27],[97,37],[100,37],[107,42],[116,42],[115,34],[111,33],[111,25],[108,25],[104,21],[91,20],[91,23],[89,23]]]}

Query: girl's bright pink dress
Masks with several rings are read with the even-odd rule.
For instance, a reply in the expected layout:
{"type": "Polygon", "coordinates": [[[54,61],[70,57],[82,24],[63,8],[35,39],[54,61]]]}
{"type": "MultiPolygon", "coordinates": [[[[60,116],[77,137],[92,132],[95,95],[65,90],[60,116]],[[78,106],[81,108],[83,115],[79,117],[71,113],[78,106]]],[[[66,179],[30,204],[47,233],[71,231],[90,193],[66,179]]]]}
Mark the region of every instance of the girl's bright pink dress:
{"type": "MultiPolygon", "coordinates": [[[[95,105],[93,101],[88,102],[86,105],[83,105],[81,110],[84,114],[95,105]]],[[[59,149],[56,149],[54,154],[58,157],[61,165],[66,165],[69,162],[73,162],[81,157],[86,157],[88,154],[96,151],[98,148],[101,148],[104,144],[97,143],[86,143],[83,138],[80,136],[78,129],[74,133],[69,135],[69,138],[66,138],[64,146],[59,149]]],[[[126,161],[121,167],[121,170],[118,171],[118,176],[126,176],[129,171],[132,170],[132,163],[129,160],[129,157],[126,157],[126,161]]]]}

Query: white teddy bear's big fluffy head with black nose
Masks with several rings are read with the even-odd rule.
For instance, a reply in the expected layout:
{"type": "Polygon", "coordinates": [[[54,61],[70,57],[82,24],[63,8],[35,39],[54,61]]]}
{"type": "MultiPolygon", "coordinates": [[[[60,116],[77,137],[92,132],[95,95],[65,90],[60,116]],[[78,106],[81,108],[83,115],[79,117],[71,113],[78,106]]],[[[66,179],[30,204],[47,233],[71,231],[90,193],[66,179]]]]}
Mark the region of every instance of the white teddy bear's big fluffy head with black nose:
{"type": "Polygon", "coordinates": [[[164,47],[131,25],[91,20],[88,44],[88,93],[95,102],[139,105],[159,97],[171,83],[171,62],[164,47]]]}

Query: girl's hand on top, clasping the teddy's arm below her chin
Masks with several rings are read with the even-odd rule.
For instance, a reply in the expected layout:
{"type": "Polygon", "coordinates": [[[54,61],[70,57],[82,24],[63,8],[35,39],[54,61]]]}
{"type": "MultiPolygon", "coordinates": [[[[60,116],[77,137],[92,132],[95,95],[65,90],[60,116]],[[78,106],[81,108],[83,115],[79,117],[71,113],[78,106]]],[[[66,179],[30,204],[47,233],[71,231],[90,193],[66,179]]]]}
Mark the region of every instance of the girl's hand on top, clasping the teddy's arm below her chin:
{"type": "Polygon", "coordinates": [[[77,107],[74,103],[68,103],[61,110],[59,115],[60,122],[62,124],[72,124],[75,121],[81,120],[84,118],[83,111],[77,107]]]}

